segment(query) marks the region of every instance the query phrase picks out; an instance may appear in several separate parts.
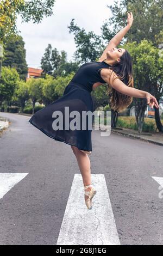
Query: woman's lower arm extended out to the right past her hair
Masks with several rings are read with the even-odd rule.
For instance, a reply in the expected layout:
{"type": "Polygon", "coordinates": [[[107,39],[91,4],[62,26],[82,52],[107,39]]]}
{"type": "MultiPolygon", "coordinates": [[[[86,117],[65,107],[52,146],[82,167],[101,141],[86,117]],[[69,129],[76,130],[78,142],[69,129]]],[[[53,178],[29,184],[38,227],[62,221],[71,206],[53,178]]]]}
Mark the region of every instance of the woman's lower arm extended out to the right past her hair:
{"type": "Polygon", "coordinates": [[[137,98],[145,98],[145,99],[147,99],[147,104],[149,104],[149,106],[151,106],[152,108],[153,108],[153,106],[155,106],[156,108],[159,108],[158,101],[152,94],[150,94],[144,90],[139,90],[139,89],[136,89],[133,87],[128,87],[128,86],[126,86],[125,83],[123,83],[118,78],[116,78],[113,81],[113,78],[115,76],[116,76],[116,74],[114,71],[109,70],[109,69],[107,71],[105,71],[105,81],[106,81],[106,83],[110,84],[110,86],[112,88],[114,88],[118,92],[128,95],[128,96],[133,96],[133,97],[137,97],[137,98]]]}

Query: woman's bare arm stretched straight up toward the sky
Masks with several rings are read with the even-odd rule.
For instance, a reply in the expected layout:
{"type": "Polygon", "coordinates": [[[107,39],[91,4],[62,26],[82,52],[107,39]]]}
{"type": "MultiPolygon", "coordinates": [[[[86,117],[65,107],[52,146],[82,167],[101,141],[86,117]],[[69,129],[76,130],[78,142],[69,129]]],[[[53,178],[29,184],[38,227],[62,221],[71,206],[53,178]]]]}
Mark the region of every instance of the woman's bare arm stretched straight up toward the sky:
{"type": "Polygon", "coordinates": [[[118,44],[120,44],[122,38],[124,37],[124,35],[127,34],[127,32],[129,31],[130,27],[132,26],[133,23],[133,14],[130,12],[128,13],[128,17],[127,17],[127,26],[122,28],[121,31],[119,31],[114,38],[112,38],[109,42],[109,44],[106,46],[102,56],[99,58],[99,61],[102,61],[104,59],[106,59],[106,52],[108,52],[109,50],[111,50],[113,47],[116,47],[118,44]]]}

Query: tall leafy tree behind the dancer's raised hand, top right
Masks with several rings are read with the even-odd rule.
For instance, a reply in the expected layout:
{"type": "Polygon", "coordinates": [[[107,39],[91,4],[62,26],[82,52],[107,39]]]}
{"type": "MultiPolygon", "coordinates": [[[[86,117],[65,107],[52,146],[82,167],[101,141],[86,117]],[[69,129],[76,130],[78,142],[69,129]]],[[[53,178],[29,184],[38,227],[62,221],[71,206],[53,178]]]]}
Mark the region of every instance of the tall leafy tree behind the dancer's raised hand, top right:
{"type": "Polygon", "coordinates": [[[126,26],[127,11],[132,11],[134,22],[123,42],[141,42],[146,39],[158,47],[163,41],[163,1],[162,0],[122,0],[107,5],[112,16],[102,26],[104,40],[110,40],[112,33],[116,34],[126,26]],[[112,31],[110,30],[112,26],[112,31]]]}

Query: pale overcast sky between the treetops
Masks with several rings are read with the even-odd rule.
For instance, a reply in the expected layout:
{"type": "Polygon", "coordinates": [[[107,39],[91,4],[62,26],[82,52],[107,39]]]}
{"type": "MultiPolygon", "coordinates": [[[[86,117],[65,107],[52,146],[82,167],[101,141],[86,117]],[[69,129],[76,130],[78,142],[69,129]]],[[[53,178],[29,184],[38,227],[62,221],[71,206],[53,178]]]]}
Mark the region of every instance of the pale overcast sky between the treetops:
{"type": "Polygon", "coordinates": [[[26,48],[27,65],[40,68],[40,60],[48,44],[57,50],[67,52],[67,60],[73,60],[76,51],[74,35],[69,33],[67,26],[71,20],[86,32],[93,31],[101,35],[101,27],[105,20],[111,16],[107,5],[114,0],[56,0],[51,17],[44,17],[40,24],[21,23],[17,19],[17,28],[21,31],[26,48]]]}

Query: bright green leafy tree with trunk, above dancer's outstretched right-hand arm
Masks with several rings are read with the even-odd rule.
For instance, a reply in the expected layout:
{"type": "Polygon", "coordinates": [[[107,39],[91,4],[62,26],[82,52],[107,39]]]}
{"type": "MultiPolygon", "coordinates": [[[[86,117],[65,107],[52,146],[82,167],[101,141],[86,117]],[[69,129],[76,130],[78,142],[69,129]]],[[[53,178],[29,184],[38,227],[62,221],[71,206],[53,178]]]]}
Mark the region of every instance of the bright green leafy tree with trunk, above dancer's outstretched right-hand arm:
{"type": "MultiPolygon", "coordinates": [[[[128,43],[125,48],[133,59],[134,87],[155,95],[159,102],[163,94],[163,57],[159,56],[159,49],[147,40],[142,40],[140,44],[128,43]]],[[[138,130],[141,132],[147,100],[134,98],[134,102],[136,122],[138,130]]],[[[158,108],[155,108],[155,115],[159,116],[158,108]]],[[[163,131],[161,126],[160,131],[163,131]]]]}

